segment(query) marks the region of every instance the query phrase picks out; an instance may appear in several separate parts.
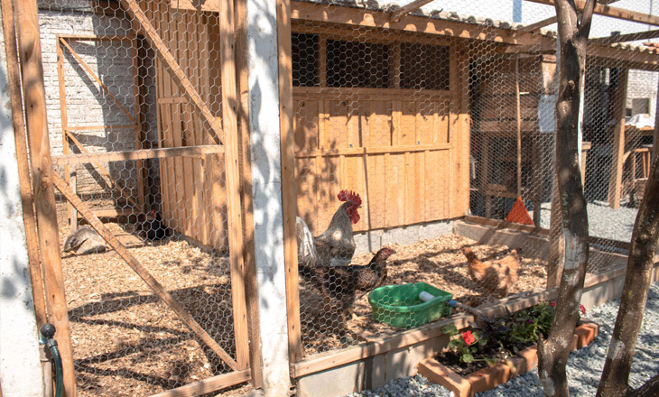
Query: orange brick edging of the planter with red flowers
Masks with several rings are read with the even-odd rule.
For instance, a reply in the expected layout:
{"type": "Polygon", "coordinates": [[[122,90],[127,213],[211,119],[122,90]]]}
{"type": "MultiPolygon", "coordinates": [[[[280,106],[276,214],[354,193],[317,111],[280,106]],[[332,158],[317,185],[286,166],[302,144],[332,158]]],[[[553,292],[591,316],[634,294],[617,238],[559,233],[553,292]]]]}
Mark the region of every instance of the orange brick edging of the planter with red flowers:
{"type": "MultiPolygon", "coordinates": [[[[579,327],[574,330],[572,351],[587,346],[599,335],[599,326],[592,321],[582,320],[579,327]]],[[[441,384],[453,392],[456,397],[471,397],[477,392],[486,392],[494,389],[509,379],[525,374],[538,365],[538,348],[529,346],[517,355],[507,360],[506,364],[498,363],[494,366],[479,369],[475,373],[464,377],[454,373],[450,368],[441,365],[432,357],[419,363],[419,374],[429,381],[441,384]]]]}

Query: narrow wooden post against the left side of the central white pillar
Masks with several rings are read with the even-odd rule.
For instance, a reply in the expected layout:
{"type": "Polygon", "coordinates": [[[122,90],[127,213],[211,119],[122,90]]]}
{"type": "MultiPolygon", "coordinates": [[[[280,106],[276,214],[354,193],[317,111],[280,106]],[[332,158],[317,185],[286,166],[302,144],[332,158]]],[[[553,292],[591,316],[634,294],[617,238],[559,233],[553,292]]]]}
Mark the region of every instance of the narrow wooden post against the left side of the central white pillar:
{"type": "Polygon", "coordinates": [[[254,208],[252,203],[252,162],[249,151],[249,85],[247,83],[247,34],[245,0],[236,0],[236,70],[239,106],[238,135],[240,149],[241,189],[240,204],[243,211],[243,262],[245,266],[245,294],[247,306],[247,327],[249,328],[249,367],[252,385],[263,387],[261,368],[261,348],[258,341],[258,302],[256,301],[256,263],[254,257],[254,208]]]}

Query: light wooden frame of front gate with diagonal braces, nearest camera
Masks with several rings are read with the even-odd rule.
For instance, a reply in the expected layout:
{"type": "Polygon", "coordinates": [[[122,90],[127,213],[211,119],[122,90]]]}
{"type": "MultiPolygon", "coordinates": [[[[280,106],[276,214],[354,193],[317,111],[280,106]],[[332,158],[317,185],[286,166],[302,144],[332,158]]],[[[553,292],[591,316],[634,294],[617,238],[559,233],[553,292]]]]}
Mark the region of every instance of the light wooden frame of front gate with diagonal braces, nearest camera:
{"type": "MultiPolygon", "coordinates": [[[[234,0],[222,0],[220,2],[220,9],[227,14],[235,16],[233,1],[234,0]]],[[[107,161],[141,161],[150,158],[190,155],[190,153],[197,152],[225,152],[225,170],[227,174],[227,223],[229,229],[229,256],[231,265],[231,284],[234,306],[233,312],[234,329],[236,334],[237,360],[234,363],[231,363],[231,357],[228,357],[229,360],[226,359],[227,357],[223,357],[225,358],[224,361],[226,361],[232,368],[235,369],[235,372],[233,373],[214,376],[201,382],[191,383],[178,389],[162,392],[159,395],[197,395],[199,393],[213,392],[233,384],[243,383],[250,378],[255,384],[255,387],[260,387],[260,378],[256,378],[254,376],[254,374],[257,374],[260,377],[260,352],[258,351],[258,343],[255,340],[255,343],[250,344],[248,337],[248,335],[251,335],[252,337],[257,335],[257,333],[248,332],[250,328],[254,329],[256,327],[257,318],[255,317],[255,297],[252,295],[250,296],[249,300],[246,297],[246,283],[249,285],[249,292],[251,295],[254,292],[253,284],[255,282],[254,280],[249,280],[246,282],[246,277],[248,275],[254,277],[255,272],[253,263],[250,263],[250,260],[248,259],[251,257],[253,260],[254,255],[246,253],[244,248],[245,243],[243,241],[243,213],[241,211],[242,203],[240,195],[241,188],[243,191],[246,191],[246,187],[249,187],[250,185],[250,180],[247,180],[245,175],[243,175],[244,179],[241,180],[238,163],[238,144],[242,143],[243,150],[245,150],[246,142],[244,137],[243,140],[239,142],[240,137],[238,136],[237,111],[239,104],[243,103],[244,101],[239,102],[237,97],[237,60],[234,49],[234,18],[220,19],[220,49],[222,64],[221,78],[223,82],[223,118],[220,120],[219,117],[216,117],[209,112],[208,106],[206,106],[201,101],[199,95],[196,95],[194,88],[191,88],[190,84],[186,84],[186,81],[189,83],[189,80],[185,77],[181,67],[172,57],[171,52],[169,52],[168,49],[164,47],[162,39],[158,36],[158,33],[155,32],[153,26],[151,26],[149,21],[145,18],[144,12],[141,10],[139,5],[137,5],[136,0],[122,0],[121,3],[127,11],[127,14],[130,15],[134,21],[139,24],[140,31],[144,32],[146,40],[150,42],[154,50],[156,50],[158,56],[160,56],[162,60],[164,60],[168,66],[170,66],[177,81],[181,84],[184,92],[188,97],[190,97],[191,102],[197,106],[201,114],[206,118],[207,121],[209,121],[209,124],[213,130],[212,133],[215,135],[214,137],[216,142],[219,144],[185,148],[135,150],[131,152],[83,152],[81,154],[66,153],[63,156],[58,156],[51,159],[45,107],[42,53],[38,30],[39,24],[37,23],[38,8],[35,0],[21,1],[16,3],[15,26],[18,30],[18,48],[16,50],[19,50],[22,54],[26,55],[22,56],[19,60],[17,57],[18,51],[14,51],[14,57],[11,57],[11,59],[8,60],[8,69],[10,69],[14,76],[18,76],[17,69],[19,66],[23,72],[23,90],[25,94],[24,98],[21,98],[20,90],[17,91],[14,89],[12,93],[12,97],[14,99],[13,103],[15,102],[13,107],[14,123],[18,121],[17,125],[21,125],[20,122],[23,119],[24,108],[27,137],[30,142],[29,161],[32,163],[32,189],[34,190],[34,207],[36,210],[36,220],[38,221],[39,226],[39,247],[41,248],[42,254],[40,258],[42,262],[42,268],[40,270],[44,274],[43,287],[47,297],[49,298],[48,301],[45,302],[49,315],[48,319],[53,324],[55,324],[56,327],[58,327],[58,334],[60,335],[58,340],[60,342],[60,352],[62,354],[62,361],[65,370],[65,394],[69,396],[75,395],[76,385],[75,369],[73,366],[72,350],[70,346],[70,330],[67,316],[68,309],[64,294],[63,273],[61,268],[59,246],[60,239],[57,230],[53,183],[58,187],[58,189],[62,191],[62,193],[65,194],[65,196],[67,196],[67,199],[70,200],[71,204],[76,206],[77,209],[83,213],[83,216],[86,217],[88,221],[90,221],[90,224],[92,224],[92,226],[97,229],[99,234],[102,235],[104,239],[110,243],[110,245],[113,245],[117,253],[121,254],[125,261],[143,277],[144,281],[152,287],[153,291],[156,291],[156,294],[159,295],[159,297],[161,297],[165,303],[168,303],[168,306],[172,307],[172,300],[167,299],[167,296],[169,295],[167,291],[158,291],[159,284],[155,282],[153,277],[151,277],[148,272],[140,272],[141,264],[137,262],[135,258],[125,250],[123,245],[116,241],[114,235],[104,233],[107,232],[105,226],[103,226],[102,223],[98,221],[97,217],[88,211],[88,208],[86,208],[87,206],[70,189],[69,184],[65,180],[61,180],[57,174],[52,172],[51,166],[55,164],[70,165],[75,163],[93,163],[102,161],[104,159],[107,161]],[[30,84],[28,84],[26,81],[29,81],[30,84]],[[23,104],[24,107],[20,106],[21,104],[23,104]],[[219,126],[220,123],[222,128],[219,126]],[[224,141],[224,144],[222,144],[222,141],[224,141]],[[54,162],[51,162],[51,160],[54,160],[54,162]],[[246,268],[246,262],[249,264],[248,268],[246,268]],[[246,302],[249,302],[249,311],[247,310],[246,302]],[[247,323],[248,316],[251,320],[249,324],[250,327],[248,327],[247,323]],[[252,365],[250,365],[250,361],[252,362],[252,365]]],[[[2,5],[5,15],[14,14],[12,13],[14,5],[13,0],[2,0],[2,5]]],[[[244,17],[244,10],[244,6],[238,7],[237,14],[244,17]]],[[[14,26],[14,18],[11,18],[11,21],[7,18],[4,18],[4,22],[5,26],[14,26]]],[[[244,23],[244,21],[242,23],[244,23]]],[[[5,34],[11,35],[11,32],[5,30],[5,34]]],[[[244,31],[242,34],[244,36],[244,31]]],[[[241,37],[238,39],[240,40],[241,37]]],[[[84,37],[84,39],[89,40],[90,38],[87,36],[84,37]]],[[[242,41],[245,41],[245,37],[242,37],[242,41]]],[[[10,39],[5,40],[5,42],[15,41],[10,37],[10,39]]],[[[60,43],[66,46],[65,40],[58,38],[59,60],[61,60],[60,43]]],[[[71,50],[70,47],[69,50],[71,50]]],[[[11,52],[11,49],[8,51],[11,52]]],[[[242,58],[238,61],[240,62],[241,60],[244,61],[242,58]]],[[[58,66],[60,67],[60,64],[58,66]]],[[[246,76],[244,76],[244,73],[242,73],[241,70],[241,81],[245,77],[246,76]]],[[[135,109],[139,110],[138,107],[135,109]]],[[[135,115],[138,115],[138,113],[135,113],[135,115]]],[[[241,109],[240,117],[241,119],[246,117],[246,109],[241,109]]],[[[138,127],[139,125],[135,126],[136,129],[138,127]]],[[[66,125],[64,128],[70,129],[68,125],[66,125]]],[[[20,132],[16,133],[16,139],[19,139],[20,137],[20,132]]],[[[63,132],[63,138],[68,141],[68,139],[70,139],[70,135],[67,135],[65,132],[63,132]]],[[[67,147],[66,144],[65,147],[67,147]]],[[[24,163],[23,165],[26,165],[28,162],[27,151],[18,154],[20,155],[18,159],[19,163],[24,163]]],[[[243,168],[245,168],[244,164],[243,168]]],[[[247,191],[251,191],[251,189],[247,191]]],[[[245,206],[245,208],[249,209],[250,207],[245,206]]],[[[246,216],[251,220],[251,213],[247,214],[246,216]]],[[[250,227],[251,225],[246,225],[246,228],[250,227]]],[[[246,235],[251,235],[251,233],[246,233],[246,235]]],[[[253,243],[251,244],[253,245],[253,243]]],[[[34,264],[35,267],[39,267],[38,265],[40,263],[31,263],[31,267],[32,264],[34,264]]],[[[43,290],[35,288],[34,291],[43,290]]],[[[38,302],[38,299],[35,300],[38,302]]],[[[185,310],[176,308],[176,306],[177,305],[173,303],[172,309],[174,309],[174,311],[176,311],[177,314],[183,318],[184,322],[189,327],[192,326],[191,328],[194,329],[194,324],[196,324],[194,319],[185,319],[187,317],[185,315],[185,310]]],[[[203,337],[203,329],[200,331],[202,332],[195,331],[195,333],[200,336],[202,340],[204,340],[205,338],[203,337]]],[[[217,349],[214,350],[216,353],[218,352],[217,349]]],[[[220,357],[222,356],[221,354],[218,355],[220,355],[220,357]]]]}

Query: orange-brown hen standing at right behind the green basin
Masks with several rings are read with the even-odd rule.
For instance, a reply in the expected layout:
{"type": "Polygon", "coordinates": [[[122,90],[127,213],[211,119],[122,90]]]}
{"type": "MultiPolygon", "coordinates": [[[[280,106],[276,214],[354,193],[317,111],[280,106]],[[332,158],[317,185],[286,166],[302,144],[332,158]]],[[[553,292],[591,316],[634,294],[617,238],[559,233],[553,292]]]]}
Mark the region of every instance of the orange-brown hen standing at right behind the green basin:
{"type": "Polygon", "coordinates": [[[462,253],[467,257],[471,279],[487,290],[497,292],[499,298],[505,297],[517,282],[519,255],[515,250],[501,259],[487,262],[478,260],[469,247],[462,248],[462,253]]]}

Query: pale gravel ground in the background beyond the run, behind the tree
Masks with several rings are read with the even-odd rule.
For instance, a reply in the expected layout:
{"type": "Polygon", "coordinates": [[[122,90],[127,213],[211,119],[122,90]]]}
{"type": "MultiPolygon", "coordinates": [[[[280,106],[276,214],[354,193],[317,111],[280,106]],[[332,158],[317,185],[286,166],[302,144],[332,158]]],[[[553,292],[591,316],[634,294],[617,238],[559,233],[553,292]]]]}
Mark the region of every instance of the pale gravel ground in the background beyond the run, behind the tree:
{"type": "MultiPolygon", "coordinates": [[[[540,217],[540,226],[549,228],[552,203],[542,203],[540,207],[543,214],[540,217]]],[[[603,201],[588,203],[589,235],[629,242],[632,239],[637,213],[638,208],[624,205],[613,209],[603,201]]],[[[533,217],[533,211],[531,211],[531,216],[533,217]]]]}

